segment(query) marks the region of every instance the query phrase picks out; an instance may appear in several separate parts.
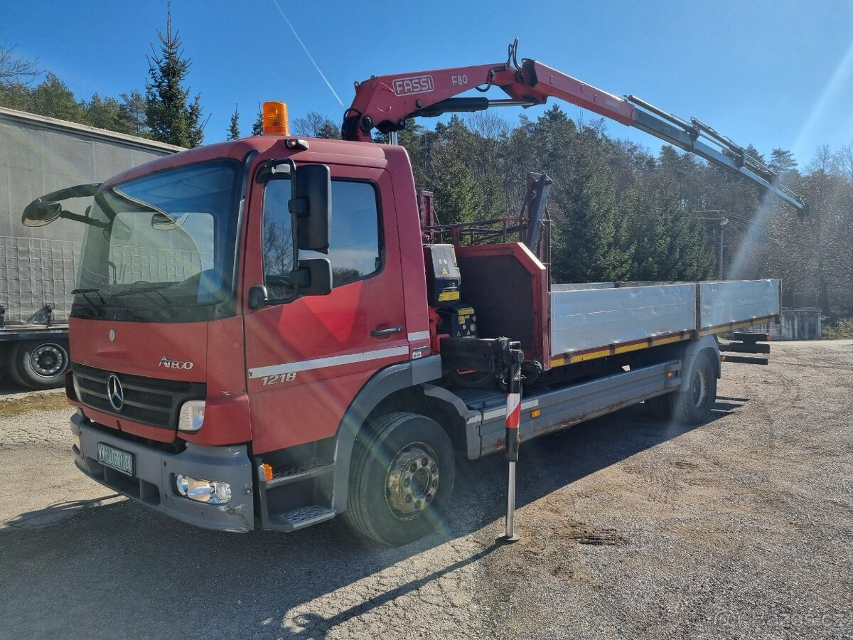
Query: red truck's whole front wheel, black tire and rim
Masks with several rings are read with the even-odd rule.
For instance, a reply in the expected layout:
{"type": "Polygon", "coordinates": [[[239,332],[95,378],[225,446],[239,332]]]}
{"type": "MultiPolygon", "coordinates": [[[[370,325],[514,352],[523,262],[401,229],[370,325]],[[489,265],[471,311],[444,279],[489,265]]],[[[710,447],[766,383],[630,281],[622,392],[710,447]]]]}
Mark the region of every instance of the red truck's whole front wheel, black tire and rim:
{"type": "Polygon", "coordinates": [[[356,441],[345,520],[382,544],[414,542],[442,521],[455,477],[453,445],[436,422],[382,416],[356,441]]]}

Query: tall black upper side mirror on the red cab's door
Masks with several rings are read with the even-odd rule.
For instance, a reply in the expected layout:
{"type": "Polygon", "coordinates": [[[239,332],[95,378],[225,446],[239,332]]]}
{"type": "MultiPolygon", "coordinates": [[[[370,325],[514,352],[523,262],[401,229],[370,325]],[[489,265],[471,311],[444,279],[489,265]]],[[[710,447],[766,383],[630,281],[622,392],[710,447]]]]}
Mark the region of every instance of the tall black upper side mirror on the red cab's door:
{"type": "Polygon", "coordinates": [[[328,253],[332,218],[332,177],[328,166],[302,165],[293,172],[293,198],[299,249],[328,253]]]}

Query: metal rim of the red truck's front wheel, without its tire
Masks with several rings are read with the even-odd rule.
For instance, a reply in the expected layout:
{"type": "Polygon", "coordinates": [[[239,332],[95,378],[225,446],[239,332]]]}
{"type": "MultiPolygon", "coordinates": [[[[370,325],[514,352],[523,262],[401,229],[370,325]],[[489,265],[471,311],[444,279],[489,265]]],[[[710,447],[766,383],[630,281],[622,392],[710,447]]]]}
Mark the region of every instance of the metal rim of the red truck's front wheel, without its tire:
{"type": "Polygon", "coordinates": [[[423,442],[406,445],[391,462],[386,474],[385,500],[397,520],[421,517],[438,493],[438,457],[423,442]]]}

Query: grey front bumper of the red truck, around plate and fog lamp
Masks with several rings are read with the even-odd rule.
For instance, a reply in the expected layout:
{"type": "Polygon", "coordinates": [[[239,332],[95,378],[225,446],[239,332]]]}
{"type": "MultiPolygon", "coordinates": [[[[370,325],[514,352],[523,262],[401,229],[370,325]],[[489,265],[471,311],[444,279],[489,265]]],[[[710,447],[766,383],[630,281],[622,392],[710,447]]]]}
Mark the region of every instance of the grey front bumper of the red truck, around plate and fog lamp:
{"type": "Polygon", "coordinates": [[[103,486],[196,527],[230,532],[247,532],[254,528],[252,464],[246,445],[188,443],[186,450],[171,454],[95,428],[79,412],[71,417],[71,430],[80,440],[80,450],[74,450],[74,463],[103,486]],[[99,442],[131,453],[134,475],[131,477],[99,463],[99,442]],[[174,489],[175,474],[228,482],[231,499],[225,504],[205,504],[180,496],[174,489]]]}

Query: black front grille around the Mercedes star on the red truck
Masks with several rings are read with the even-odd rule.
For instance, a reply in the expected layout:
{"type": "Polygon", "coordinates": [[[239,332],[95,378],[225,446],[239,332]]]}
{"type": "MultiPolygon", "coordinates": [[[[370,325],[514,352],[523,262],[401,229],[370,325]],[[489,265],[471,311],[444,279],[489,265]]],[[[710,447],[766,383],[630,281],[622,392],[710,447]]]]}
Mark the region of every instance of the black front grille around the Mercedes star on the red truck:
{"type": "Polygon", "coordinates": [[[116,373],[125,391],[125,404],[120,411],[107,399],[107,377],[112,371],[72,363],[71,369],[80,387],[80,402],[110,416],[125,418],[152,427],[177,429],[178,411],[187,400],[203,400],[203,382],[161,380],[142,375],[116,373]]]}

